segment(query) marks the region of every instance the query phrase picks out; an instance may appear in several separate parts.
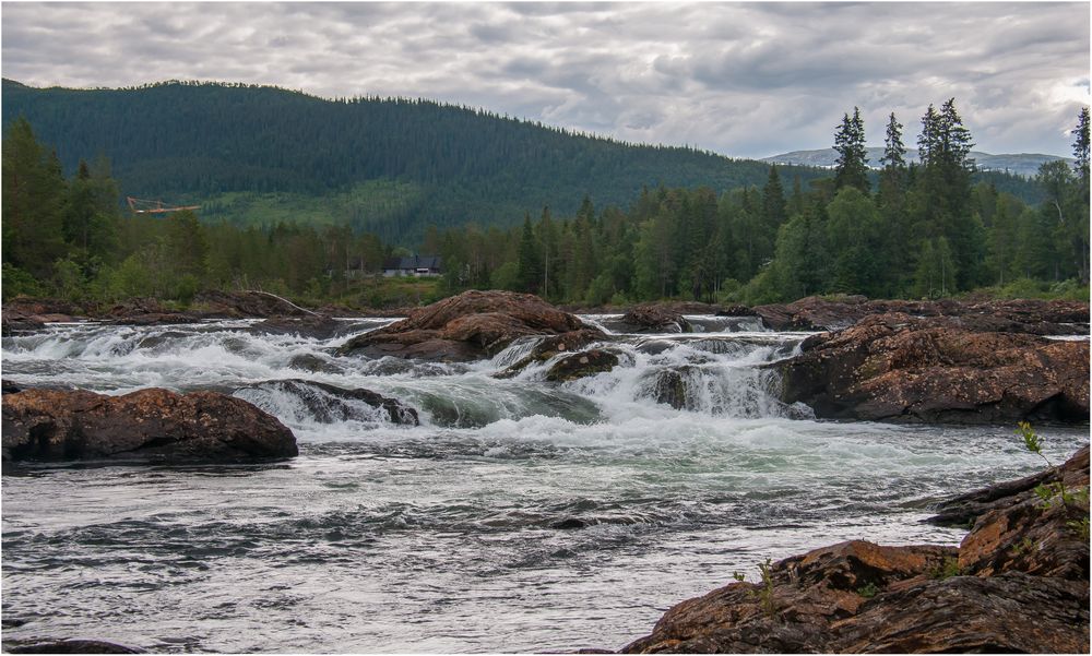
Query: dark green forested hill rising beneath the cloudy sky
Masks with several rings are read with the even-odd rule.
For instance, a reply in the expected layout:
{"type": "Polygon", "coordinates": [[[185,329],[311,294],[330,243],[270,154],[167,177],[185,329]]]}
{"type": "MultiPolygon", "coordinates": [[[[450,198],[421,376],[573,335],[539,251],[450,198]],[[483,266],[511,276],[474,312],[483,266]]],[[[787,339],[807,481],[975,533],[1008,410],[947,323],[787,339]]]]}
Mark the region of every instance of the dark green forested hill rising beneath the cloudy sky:
{"type": "MultiPolygon", "coordinates": [[[[347,220],[403,243],[428,224],[512,225],[544,205],[572,215],[585,194],[625,205],[642,186],[721,192],[769,175],[760,162],[435,102],[327,100],[264,86],[83,91],[4,80],[4,128],[21,115],[67,171],[80,158],[108,157],[123,195],[200,203],[203,218],[347,220]]],[[[782,175],[806,186],[830,174],[787,166],[782,175]]]]}

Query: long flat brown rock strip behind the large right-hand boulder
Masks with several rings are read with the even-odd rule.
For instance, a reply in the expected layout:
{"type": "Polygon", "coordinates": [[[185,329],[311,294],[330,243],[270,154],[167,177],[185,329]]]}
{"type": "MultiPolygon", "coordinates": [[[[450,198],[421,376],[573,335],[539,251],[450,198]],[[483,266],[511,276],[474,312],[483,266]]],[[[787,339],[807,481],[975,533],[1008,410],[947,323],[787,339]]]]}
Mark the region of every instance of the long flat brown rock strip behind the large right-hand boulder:
{"type": "MultiPolygon", "coordinates": [[[[738,311],[738,310],[737,310],[738,311]]],[[[848,327],[866,317],[899,312],[947,318],[947,325],[976,332],[1070,335],[1088,331],[1089,305],[1064,300],[911,301],[868,300],[863,296],[824,299],[809,296],[791,303],[757,306],[751,311],[776,331],[848,327]]]]}

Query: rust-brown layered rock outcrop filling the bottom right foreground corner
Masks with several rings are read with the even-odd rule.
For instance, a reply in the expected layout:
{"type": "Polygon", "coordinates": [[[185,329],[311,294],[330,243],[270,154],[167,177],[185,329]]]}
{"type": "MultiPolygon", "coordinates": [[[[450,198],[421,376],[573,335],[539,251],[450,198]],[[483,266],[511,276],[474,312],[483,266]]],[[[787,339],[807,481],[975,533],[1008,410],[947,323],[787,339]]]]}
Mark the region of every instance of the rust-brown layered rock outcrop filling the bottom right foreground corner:
{"type": "Polygon", "coordinates": [[[763,565],[622,652],[1088,653],[1087,489],[987,512],[959,549],[855,540],[763,565]]]}

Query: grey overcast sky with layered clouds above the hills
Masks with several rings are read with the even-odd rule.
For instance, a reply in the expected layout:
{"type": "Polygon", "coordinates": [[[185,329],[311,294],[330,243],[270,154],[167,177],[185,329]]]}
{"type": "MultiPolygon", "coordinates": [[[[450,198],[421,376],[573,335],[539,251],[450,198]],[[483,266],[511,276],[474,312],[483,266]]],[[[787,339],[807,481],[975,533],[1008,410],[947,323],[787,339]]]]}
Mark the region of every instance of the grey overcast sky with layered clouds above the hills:
{"type": "Polygon", "coordinates": [[[400,95],[736,157],[830,146],[857,105],[913,145],[954,96],[977,150],[1069,155],[1089,103],[1071,3],[3,2],[3,76],[400,95]]]}

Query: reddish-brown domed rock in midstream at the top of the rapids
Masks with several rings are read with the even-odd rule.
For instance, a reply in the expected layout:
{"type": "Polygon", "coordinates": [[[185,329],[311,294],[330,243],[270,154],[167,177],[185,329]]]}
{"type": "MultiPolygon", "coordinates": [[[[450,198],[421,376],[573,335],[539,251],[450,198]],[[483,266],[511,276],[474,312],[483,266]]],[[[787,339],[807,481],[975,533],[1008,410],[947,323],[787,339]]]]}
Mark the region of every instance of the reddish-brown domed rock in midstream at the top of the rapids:
{"type": "Polygon", "coordinates": [[[537,296],[464,291],[415,310],[406,319],[357,335],[339,355],[395,356],[441,361],[491,357],[520,337],[563,335],[589,329],[537,296]]]}

